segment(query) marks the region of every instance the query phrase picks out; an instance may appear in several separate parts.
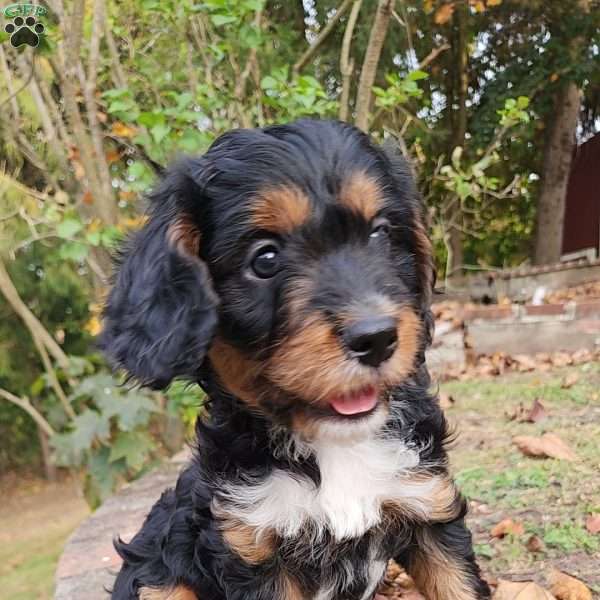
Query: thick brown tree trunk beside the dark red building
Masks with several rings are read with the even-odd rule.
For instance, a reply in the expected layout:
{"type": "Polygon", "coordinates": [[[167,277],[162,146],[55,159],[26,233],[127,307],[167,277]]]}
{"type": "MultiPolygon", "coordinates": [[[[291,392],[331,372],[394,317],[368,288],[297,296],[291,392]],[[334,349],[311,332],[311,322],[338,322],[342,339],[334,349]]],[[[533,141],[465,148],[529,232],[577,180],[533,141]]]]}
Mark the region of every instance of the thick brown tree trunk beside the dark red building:
{"type": "Polygon", "coordinates": [[[553,118],[548,124],[537,206],[533,257],[536,265],[560,260],[567,183],[580,107],[581,92],[575,83],[569,81],[558,91],[553,118]]]}

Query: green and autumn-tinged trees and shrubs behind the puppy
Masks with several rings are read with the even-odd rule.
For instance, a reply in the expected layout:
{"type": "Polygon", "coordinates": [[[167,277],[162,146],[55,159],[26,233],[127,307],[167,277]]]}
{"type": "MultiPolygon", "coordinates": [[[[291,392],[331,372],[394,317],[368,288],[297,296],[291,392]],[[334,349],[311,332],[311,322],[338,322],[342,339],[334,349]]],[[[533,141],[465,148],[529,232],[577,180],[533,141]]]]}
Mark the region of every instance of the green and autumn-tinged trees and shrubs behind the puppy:
{"type": "Polygon", "coordinates": [[[392,137],[442,275],[528,260],[569,85],[579,138],[598,129],[600,16],[579,4],[53,0],[38,48],[0,33],[0,468],[81,469],[95,504],[181,444],[199,388],[132,390],[93,338],[141,193],[232,127],[341,116],[392,137]]]}

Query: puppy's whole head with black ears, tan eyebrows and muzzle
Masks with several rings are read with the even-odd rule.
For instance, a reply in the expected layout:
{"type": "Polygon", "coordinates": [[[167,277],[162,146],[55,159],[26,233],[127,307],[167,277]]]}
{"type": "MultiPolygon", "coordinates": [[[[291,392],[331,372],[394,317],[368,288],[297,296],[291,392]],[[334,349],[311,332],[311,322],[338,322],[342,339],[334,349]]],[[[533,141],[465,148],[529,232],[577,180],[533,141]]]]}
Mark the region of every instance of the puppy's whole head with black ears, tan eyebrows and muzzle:
{"type": "Polygon", "coordinates": [[[423,360],[432,263],[405,162],[338,122],[219,138],[174,167],[124,252],[103,346],[311,437],[382,423],[423,360]]]}

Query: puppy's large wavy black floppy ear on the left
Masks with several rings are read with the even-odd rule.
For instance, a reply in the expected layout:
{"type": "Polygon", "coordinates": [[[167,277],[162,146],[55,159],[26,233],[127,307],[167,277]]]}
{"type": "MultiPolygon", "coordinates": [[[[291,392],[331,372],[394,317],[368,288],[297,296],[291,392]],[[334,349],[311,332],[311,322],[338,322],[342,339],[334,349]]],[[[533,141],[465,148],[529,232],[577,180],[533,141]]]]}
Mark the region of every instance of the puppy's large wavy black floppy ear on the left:
{"type": "Polygon", "coordinates": [[[202,201],[197,172],[191,161],[179,165],[152,195],[149,220],[121,253],[104,309],[102,349],[153,388],[195,379],[217,324],[218,299],[190,212],[202,201]]]}

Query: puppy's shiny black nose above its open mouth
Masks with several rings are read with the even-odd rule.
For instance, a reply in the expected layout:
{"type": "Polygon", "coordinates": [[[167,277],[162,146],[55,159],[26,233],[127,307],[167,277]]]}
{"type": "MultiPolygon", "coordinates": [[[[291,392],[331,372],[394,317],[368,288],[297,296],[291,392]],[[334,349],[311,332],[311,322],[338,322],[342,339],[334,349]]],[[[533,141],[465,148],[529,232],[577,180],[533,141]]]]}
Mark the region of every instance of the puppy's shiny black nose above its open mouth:
{"type": "Polygon", "coordinates": [[[343,338],[350,354],[364,365],[378,367],[396,349],[398,334],[392,317],[372,317],[345,329],[343,338]]]}

